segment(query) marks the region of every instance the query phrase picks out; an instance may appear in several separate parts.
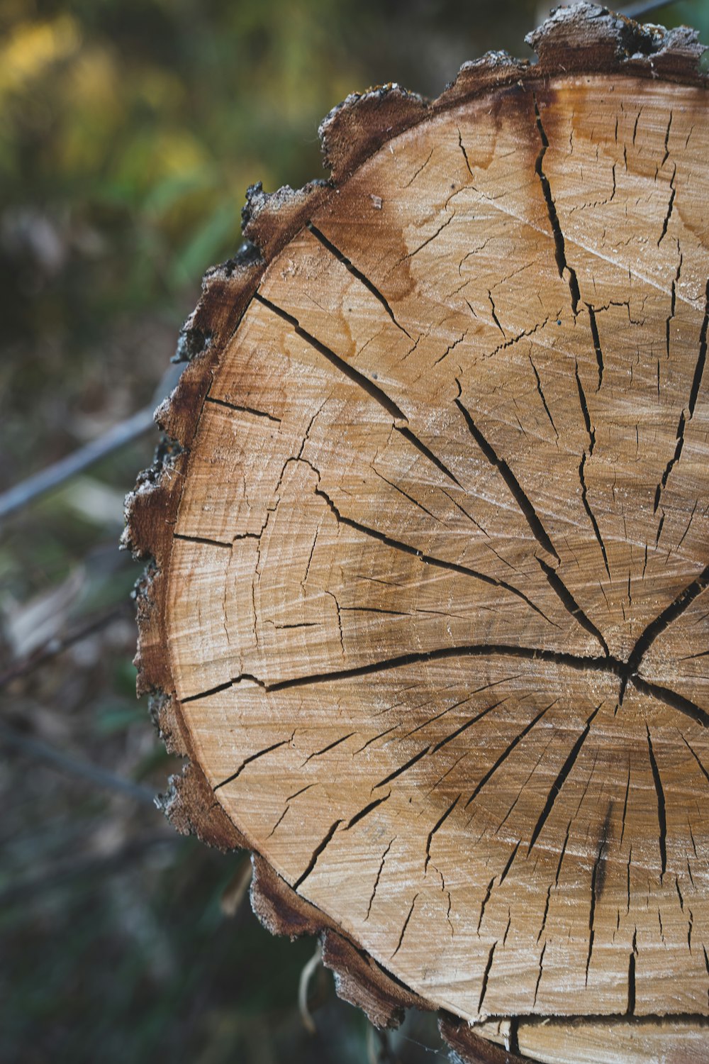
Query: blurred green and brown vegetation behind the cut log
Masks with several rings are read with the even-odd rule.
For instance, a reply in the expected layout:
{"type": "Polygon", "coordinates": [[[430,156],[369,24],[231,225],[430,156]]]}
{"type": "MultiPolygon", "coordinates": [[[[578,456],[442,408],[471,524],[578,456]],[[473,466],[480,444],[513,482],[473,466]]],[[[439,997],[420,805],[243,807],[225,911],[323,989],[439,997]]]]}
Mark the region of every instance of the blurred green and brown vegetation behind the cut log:
{"type": "MultiPolygon", "coordinates": [[[[247,185],[322,174],[348,93],[437,95],[491,48],[529,55],[535,0],[1,0],[0,493],[151,401],[247,185]]],[[[709,3],[658,7],[709,39],[709,3]]],[[[0,1060],[444,1060],[388,1047],[314,943],[251,915],[242,854],[180,838],[152,795],[181,766],[135,701],[122,499],[155,433],[0,528],[0,1060]]]]}

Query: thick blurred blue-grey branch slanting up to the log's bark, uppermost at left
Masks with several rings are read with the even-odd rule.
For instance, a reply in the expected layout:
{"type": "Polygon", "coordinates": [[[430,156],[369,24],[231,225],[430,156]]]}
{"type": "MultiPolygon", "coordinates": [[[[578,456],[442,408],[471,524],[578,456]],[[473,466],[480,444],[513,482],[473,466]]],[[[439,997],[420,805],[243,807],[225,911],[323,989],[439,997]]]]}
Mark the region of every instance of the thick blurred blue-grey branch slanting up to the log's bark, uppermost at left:
{"type": "Polygon", "coordinates": [[[41,469],[32,477],[28,477],[27,480],[21,481],[0,495],[0,520],[10,517],[11,514],[21,510],[41,495],[61,487],[67,480],[75,477],[77,473],[83,472],[84,469],[94,465],[95,462],[106,458],[121,447],[125,447],[126,444],[137,439],[138,436],[144,435],[150,429],[154,429],[155,421],[153,415],[155,406],[176,385],[183,368],[184,364],[170,365],[163,375],[151,402],[148,406],[139,410],[137,414],[133,414],[124,421],[119,421],[118,425],[114,425],[113,428],[108,429],[102,436],[99,436],[98,439],[91,439],[84,447],[80,447],[79,450],[67,454],[66,458],[54,462],[53,465],[41,469]]]}

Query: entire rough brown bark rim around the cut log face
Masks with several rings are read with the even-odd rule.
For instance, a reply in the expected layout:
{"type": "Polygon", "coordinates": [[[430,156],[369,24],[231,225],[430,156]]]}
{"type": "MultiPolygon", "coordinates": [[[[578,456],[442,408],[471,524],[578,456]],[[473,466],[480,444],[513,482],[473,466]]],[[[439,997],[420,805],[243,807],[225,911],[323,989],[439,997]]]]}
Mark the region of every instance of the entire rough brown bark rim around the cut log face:
{"type": "MultiPolygon", "coordinates": [[[[285,186],[267,194],[260,184],[248,189],[242,211],[247,243],[235,259],[207,271],[202,298],[181,331],[175,360],[189,365],[172,395],[155,413],[164,432],[163,443],[155,463],[140,475],[126,499],[122,544],[136,558],[147,561],[146,572],[136,586],[138,694],[148,692],[153,696],[154,716],[168,749],[187,759],[182,776],[170,779],[159,804],[176,830],[196,833],[208,845],[234,849],[248,842],[215,801],[174,697],[164,634],[163,572],[169,569],[172,528],[189,448],[213,371],[267,264],[337,186],[387,140],[488,90],[584,72],[661,78],[697,87],[708,84],[699,69],[705,49],[697,41],[696,31],[686,27],[672,31],[643,27],[593,4],[556,10],[526,40],[539,56],[536,66],[526,60],[513,60],[506,52],[489,52],[463,64],[456,80],[433,102],[390,84],[353,94],[331,111],[319,129],[324,165],[331,169],[330,181],[313,182],[297,192],[285,186]]],[[[324,913],[301,898],[255,851],[253,861],[254,912],[272,933],[320,934],[324,963],[333,969],[342,998],[361,1008],[376,1026],[395,1026],[406,1008],[435,1011],[435,1005],[400,984],[341,929],[336,929],[324,913]]],[[[439,1026],[452,1049],[470,1064],[512,1064],[523,1060],[443,1011],[439,1026]]]]}

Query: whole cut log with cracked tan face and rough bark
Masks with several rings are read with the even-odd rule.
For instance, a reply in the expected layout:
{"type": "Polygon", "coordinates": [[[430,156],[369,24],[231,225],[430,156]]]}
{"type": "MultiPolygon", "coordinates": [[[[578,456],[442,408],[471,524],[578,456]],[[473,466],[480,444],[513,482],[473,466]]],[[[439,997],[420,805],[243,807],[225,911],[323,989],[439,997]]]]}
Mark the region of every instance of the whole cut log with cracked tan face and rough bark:
{"type": "Polygon", "coordinates": [[[129,501],[139,687],[174,824],[375,1024],[706,1060],[702,48],[589,5],[530,41],[249,190],[129,501]]]}

